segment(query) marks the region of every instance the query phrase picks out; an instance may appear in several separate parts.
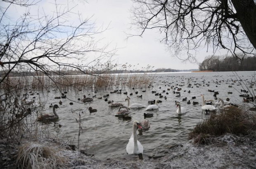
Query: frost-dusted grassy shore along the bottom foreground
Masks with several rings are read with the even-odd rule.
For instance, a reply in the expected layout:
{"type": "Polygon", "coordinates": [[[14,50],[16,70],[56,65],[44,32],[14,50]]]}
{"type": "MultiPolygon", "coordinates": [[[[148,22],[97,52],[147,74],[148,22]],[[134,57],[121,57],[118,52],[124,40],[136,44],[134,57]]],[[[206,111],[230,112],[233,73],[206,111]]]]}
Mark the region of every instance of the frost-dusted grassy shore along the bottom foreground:
{"type": "Polygon", "coordinates": [[[60,168],[256,168],[256,133],[246,137],[228,133],[211,138],[209,145],[194,144],[194,140],[190,140],[184,144],[170,145],[154,153],[144,153],[144,160],[139,160],[138,155],[125,153],[116,154],[115,157],[97,159],[97,157],[86,156],[78,150],[68,150],[65,146],[58,144],[56,139],[48,138],[38,141],[24,139],[22,141],[23,144],[20,146],[9,146],[7,150],[5,150],[3,142],[0,141],[0,167],[2,169],[17,168],[15,155],[20,147],[28,144],[33,146],[38,144],[57,150],[58,156],[65,159],[63,165],[59,166],[60,168]]]}

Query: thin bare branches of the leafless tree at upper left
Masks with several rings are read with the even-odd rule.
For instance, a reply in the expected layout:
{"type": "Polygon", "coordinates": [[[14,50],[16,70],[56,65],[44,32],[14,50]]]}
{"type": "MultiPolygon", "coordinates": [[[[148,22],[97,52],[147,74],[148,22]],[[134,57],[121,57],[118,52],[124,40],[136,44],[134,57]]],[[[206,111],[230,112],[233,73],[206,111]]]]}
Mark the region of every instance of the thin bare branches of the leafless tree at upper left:
{"type": "MultiPolygon", "coordinates": [[[[31,14],[26,7],[36,7],[30,0],[2,0],[0,7],[0,84],[11,72],[36,72],[49,77],[66,75],[67,69],[82,74],[99,75],[114,67],[111,57],[115,49],[108,44],[98,46],[95,35],[107,28],[96,28],[91,18],[77,14],[73,21],[72,8],[55,2],[52,15],[31,14]],[[10,7],[25,8],[19,19],[12,21],[10,7]],[[69,21],[71,19],[71,21],[69,21]],[[71,24],[72,22],[72,24],[71,24]],[[95,67],[99,67],[97,69],[95,67]]],[[[52,5],[52,4],[51,4],[52,5]]]]}

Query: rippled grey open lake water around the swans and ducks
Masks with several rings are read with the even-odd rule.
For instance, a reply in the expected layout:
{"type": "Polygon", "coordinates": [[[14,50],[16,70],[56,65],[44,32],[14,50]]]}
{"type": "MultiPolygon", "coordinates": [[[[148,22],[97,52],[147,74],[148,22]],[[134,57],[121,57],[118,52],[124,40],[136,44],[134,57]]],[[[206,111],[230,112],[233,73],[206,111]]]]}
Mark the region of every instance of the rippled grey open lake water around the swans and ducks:
{"type": "MultiPolygon", "coordinates": [[[[154,83],[152,84],[154,87],[147,88],[147,91],[143,93],[142,90],[145,90],[145,88],[135,88],[133,90],[126,87],[126,90],[122,90],[122,94],[110,94],[110,91],[102,91],[98,93],[88,91],[86,93],[81,92],[79,95],[71,92],[66,94],[70,100],[75,101],[77,101],[78,97],[82,98],[83,95],[86,95],[87,97],[92,97],[92,95],[102,97],[102,100],[98,100],[96,97],[93,102],[86,104],[73,102],[73,105],[70,105],[70,100],[61,99],[63,103],[62,105],[59,105],[59,100],[54,99],[54,97],[60,95],[55,95],[53,92],[48,93],[47,108],[45,111],[47,113],[52,111],[52,108],[49,108],[51,103],[58,104],[60,108],[57,109],[59,120],[56,123],[62,125],[62,127],[58,128],[55,127],[56,123],[50,123],[49,130],[53,134],[56,134],[58,131],[60,136],[66,135],[70,138],[74,138],[76,135],[73,144],[77,144],[78,123],[76,123],[76,119],[78,119],[78,116],[76,116],[75,113],[72,113],[71,110],[76,111],[77,113],[83,110],[84,113],[81,113],[81,119],[83,120],[81,140],[83,143],[86,143],[86,141],[90,139],[88,144],[89,152],[95,153],[96,158],[106,158],[123,153],[125,154],[126,144],[132,134],[132,123],[134,120],[142,121],[144,119],[143,113],[146,112],[145,108],[131,109],[130,116],[132,119],[123,120],[115,117],[118,108],[109,107],[108,103],[104,101],[103,95],[109,94],[108,100],[124,103],[127,106],[127,102],[125,102],[127,95],[123,94],[123,92],[127,91],[128,96],[130,97],[130,104],[140,103],[147,106],[149,100],[159,99],[159,96],[155,96],[155,93],[152,94],[152,90],[154,90],[156,93],[161,93],[166,96],[167,99],[160,99],[162,100],[162,103],[159,103],[158,110],[146,112],[154,113],[152,118],[147,118],[150,122],[150,129],[145,132],[137,132],[137,139],[143,145],[144,153],[152,153],[157,149],[165,148],[168,145],[186,142],[188,134],[192,131],[193,127],[202,119],[209,116],[205,115],[204,111],[201,110],[202,99],[200,94],[204,94],[205,100],[213,99],[213,93],[208,92],[208,89],[215,90],[219,92],[217,97],[223,98],[223,100],[229,97],[230,102],[244,104],[242,102],[243,98],[239,97],[239,95],[245,93],[242,93],[240,90],[248,90],[245,86],[250,86],[248,82],[255,82],[255,74],[255,72],[181,72],[149,74],[149,76],[155,76],[154,83]],[[243,81],[237,81],[240,78],[243,81]],[[234,83],[231,80],[236,80],[236,82],[234,83]],[[218,84],[216,81],[218,81],[218,84]],[[241,84],[239,84],[239,82],[241,84]],[[188,88],[189,83],[192,84],[193,88],[188,88]],[[199,84],[201,86],[199,86],[199,84]],[[209,87],[207,87],[206,84],[209,84],[209,87]],[[179,85],[184,86],[181,87],[179,85]],[[182,90],[180,90],[181,97],[175,97],[178,94],[173,94],[173,89],[167,90],[167,88],[170,88],[171,86],[182,88],[182,90]],[[232,86],[232,88],[228,86],[232,86]],[[166,92],[163,93],[163,90],[166,90],[169,94],[166,95],[166,92]],[[184,90],[186,91],[184,92],[184,90]],[[190,90],[191,93],[188,93],[188,90],[190,90]],[[137,95],[142,95],[142,98],[137,97],[135,91],[138,91],[137,95]],[[228,92],[232,92],[232,94],[228,94],[228,92]],[[133,95],[130,96],[130,93],[133,93],[133,95]],[[88,96],[88,94],[90,94],[90,96],[88,96]],[[192,100],[193,96],[195,96],[196,99],[192,100]],[[199,102],[199,104],[187,104],[187,101],[182,101],[185,97],[191,102],[195,101],[199,102]],[[187,109],[186,114],[182,116],[177,115],[175,100],[179,101],[181,106],[187,109]],[[92,108],[97,109],[97,112],[90,114],[87,110],[89,104],[92,108]]],[[[254,89],[255,85],[253,88],[250,88],[251,92],[255,93],[256,91],[254,89]]],[[[252,103],[249,103],[249,105],[252,106],[252,103]]]]}

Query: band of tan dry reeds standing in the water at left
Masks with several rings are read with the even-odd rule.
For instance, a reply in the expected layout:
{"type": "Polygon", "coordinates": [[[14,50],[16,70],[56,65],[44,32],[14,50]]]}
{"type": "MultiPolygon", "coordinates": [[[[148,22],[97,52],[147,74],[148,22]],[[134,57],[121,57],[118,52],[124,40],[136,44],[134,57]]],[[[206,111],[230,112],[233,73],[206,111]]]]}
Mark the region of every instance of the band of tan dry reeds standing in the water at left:
{"type": "Polygon", "coordinates": [[[65,75],[65,76],[8,76],[0,85],[2,93],[12,91],[44,91],[56,92],[83,90],[112,90],[115,88],[146,88],[152,83],[154,76],[147,74],[110,74],[106,72],[100,75],[65,75]]]}

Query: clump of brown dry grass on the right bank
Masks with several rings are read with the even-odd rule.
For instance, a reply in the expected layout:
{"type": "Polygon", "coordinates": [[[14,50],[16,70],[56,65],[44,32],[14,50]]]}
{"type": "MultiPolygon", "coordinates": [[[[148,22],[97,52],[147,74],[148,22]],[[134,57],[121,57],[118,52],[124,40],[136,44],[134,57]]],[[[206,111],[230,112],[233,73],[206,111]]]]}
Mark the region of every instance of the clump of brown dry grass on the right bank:
{"type": "Polygon", "coordinates": [[[197,123],[189,139],[194,139],[195,143],[208,144],[212,136],[225,133],[247,135],[255,130],[256,113],[248,111],[246,107],[232,107],[218,114],[212,113],[208,119],[197,123]]]}

